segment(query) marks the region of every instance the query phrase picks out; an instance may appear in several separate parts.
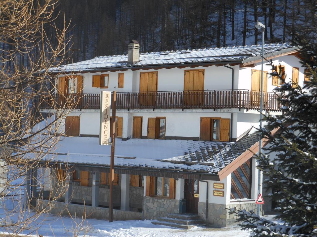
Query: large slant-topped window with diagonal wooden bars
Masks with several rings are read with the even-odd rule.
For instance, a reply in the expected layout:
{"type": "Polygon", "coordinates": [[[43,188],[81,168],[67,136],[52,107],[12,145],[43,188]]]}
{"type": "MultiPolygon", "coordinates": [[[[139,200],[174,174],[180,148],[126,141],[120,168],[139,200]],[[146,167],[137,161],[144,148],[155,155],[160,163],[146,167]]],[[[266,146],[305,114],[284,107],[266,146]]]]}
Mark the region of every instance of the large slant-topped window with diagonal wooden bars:
{"type": "Polygon", "coordinates": [[[231,173],[231,199],[251,198],[252,159],[231,173]]]}

